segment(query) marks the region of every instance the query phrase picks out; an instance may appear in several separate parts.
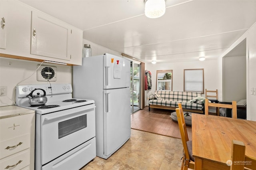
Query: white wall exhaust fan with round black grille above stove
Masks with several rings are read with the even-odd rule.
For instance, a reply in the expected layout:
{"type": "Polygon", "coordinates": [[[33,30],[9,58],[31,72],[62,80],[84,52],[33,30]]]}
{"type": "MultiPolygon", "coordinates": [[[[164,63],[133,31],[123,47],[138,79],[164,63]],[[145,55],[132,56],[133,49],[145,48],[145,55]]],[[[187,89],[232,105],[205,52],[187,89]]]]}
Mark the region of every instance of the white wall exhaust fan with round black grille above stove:
{"type": "MultiPolygon", "coordinates": [[[[39,65],[38,65],[39,66],[39,65]]],[[[57,67],[41,65],[36,73],[37,81],[56,81],[57,67]]]]}

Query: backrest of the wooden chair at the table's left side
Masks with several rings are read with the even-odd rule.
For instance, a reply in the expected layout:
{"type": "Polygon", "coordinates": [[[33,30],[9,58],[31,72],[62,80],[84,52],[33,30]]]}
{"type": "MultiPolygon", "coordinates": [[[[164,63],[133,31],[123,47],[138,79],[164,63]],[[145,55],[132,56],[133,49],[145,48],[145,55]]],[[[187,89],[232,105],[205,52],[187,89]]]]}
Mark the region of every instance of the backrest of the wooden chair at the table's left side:
{"type": "MultiPolygon", "coordinates": [[[[181,104],[180,104],[180,106],[181,106],[181,104]]],[[[183,148],[184,148],[184,154],[185,154],[186,160],[190,160],[189,153],[188,153],[188,145],[187,145],[188,132],[187,132],[182,108],[176,109],[176,115],[177,115],[177,119],[178,119],[178,125],[180,128],[180,136],[181,136],[181,140],[182,140],[182,144],[183,144],[183,148]]]]}

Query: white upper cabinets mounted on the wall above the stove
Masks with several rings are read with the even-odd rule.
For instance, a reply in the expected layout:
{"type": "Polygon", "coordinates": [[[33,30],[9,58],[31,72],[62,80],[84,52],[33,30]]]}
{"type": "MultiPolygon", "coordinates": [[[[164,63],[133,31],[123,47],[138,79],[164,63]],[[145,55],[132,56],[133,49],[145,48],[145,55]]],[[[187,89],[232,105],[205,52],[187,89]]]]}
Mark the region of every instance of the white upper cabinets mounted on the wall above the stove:
{"type": "MultiPolygon", "coordinates": [[[[8,30],[6,48],[0,53],[18,59],[82,65],[82,30],[20,1],[3,2],[7,3],[8,30]]],[[[2,17],[2,0],[0,8],[2,17]]]]}

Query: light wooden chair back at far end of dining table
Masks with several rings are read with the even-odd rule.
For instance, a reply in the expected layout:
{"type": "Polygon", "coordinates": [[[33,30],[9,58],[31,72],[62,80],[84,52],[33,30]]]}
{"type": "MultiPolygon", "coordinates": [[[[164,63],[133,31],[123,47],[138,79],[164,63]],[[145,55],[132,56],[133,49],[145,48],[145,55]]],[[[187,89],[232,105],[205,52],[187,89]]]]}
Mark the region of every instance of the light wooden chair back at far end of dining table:
{"type": "Polygon", "coordinates": [[[205,99],[204,102],[204,113],[205,115],[209,115],[209,107],[224,107],[224,108],[229,108],[232,109],[232,118],[237,119],[237,109],[236,109],[236,101],[232,101],[232,105],[228,104],[220,104],[220,103],[209,103],[208,99],[205,99]]]}

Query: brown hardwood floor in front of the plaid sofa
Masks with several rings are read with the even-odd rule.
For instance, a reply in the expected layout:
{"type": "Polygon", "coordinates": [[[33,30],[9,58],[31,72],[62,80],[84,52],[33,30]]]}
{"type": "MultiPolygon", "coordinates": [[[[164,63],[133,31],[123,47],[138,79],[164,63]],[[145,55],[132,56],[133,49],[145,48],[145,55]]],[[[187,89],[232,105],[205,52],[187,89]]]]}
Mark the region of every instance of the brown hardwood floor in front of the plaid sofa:
{"type": "MultiPolygon", "coordinates": [[[[148,111],[147,106],[131,115],[131,127],[145,132],[180,138],[178,123],[172,121],[170,113],[171,111],[169,110],[154,108],[148,111]]],[[[188,138],[192,139],[192,129],[190,126],[186,127],[188,138]]]]}

